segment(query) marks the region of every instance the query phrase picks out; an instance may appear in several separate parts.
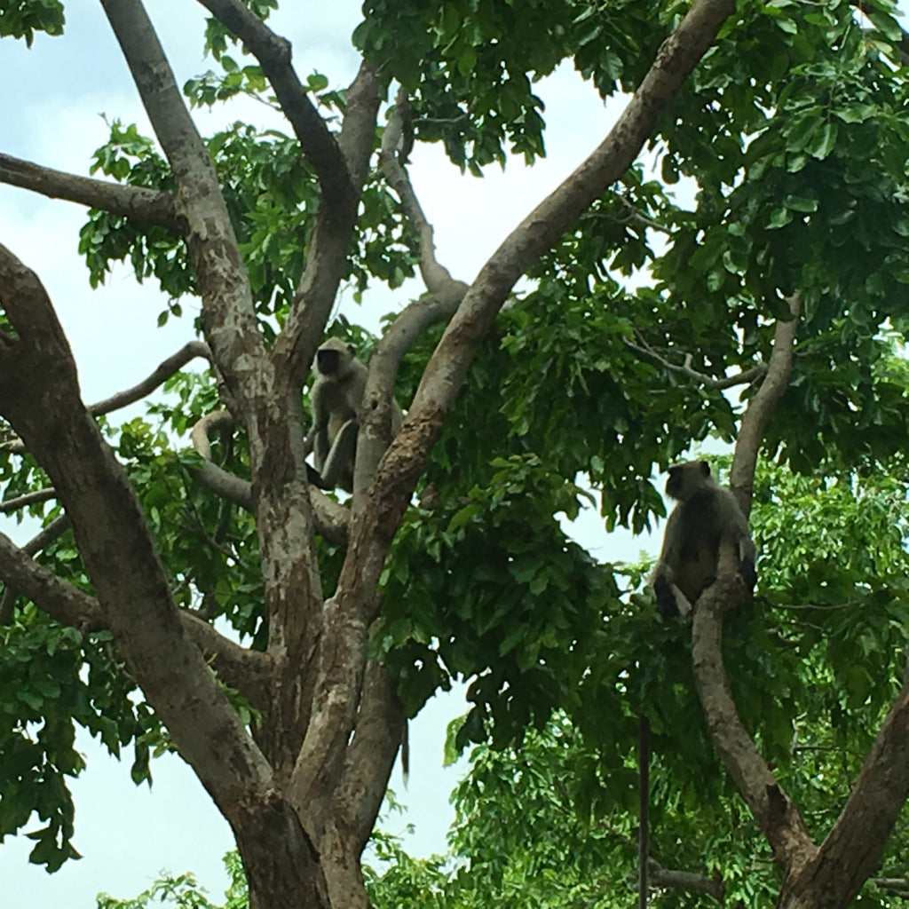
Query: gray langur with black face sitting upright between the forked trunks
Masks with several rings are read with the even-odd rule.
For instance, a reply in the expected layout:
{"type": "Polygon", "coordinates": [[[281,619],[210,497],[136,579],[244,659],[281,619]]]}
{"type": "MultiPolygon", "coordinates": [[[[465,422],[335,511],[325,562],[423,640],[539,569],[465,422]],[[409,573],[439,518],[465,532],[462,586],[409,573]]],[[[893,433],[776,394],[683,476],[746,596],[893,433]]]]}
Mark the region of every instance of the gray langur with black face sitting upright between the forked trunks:
{"type": "MultiPolygon", "coordinates": [[[[356,358],[354,345],[327,338],[315,352],[315,372],[310,434],[315,471],[310,471],[309,481],[322,489],[340,486],[350,493],[354,491],[356,436],[368,371],[356,358]]],[[[392,435],[403,422],[401,408],[393,399],[392,435]]]]}

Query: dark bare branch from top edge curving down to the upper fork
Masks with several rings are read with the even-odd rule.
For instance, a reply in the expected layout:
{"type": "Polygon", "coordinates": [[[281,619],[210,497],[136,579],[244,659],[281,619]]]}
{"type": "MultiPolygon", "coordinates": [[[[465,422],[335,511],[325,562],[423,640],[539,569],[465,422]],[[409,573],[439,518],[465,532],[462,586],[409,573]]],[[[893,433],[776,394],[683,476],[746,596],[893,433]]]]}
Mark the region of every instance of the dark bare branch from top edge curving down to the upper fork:
{"type": "Polygon", "coordinates": [[[355,198],[355,187],[347,173],[344,155],[295,73],[290,42],[275,35],[240,0],[198,2],[233,32],[259,61],[294,128],[303,154],[315,168],[326,204],[349,208],[355,198]]]}

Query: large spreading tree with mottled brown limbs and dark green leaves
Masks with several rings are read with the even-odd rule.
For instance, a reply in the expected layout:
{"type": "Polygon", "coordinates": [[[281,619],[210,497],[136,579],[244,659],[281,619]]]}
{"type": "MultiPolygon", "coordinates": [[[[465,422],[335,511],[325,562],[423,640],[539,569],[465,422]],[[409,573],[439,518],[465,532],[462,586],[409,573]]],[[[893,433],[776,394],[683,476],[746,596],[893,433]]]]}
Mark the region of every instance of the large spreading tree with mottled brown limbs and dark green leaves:
{"type": "MultiPolygon", "coordinates": [[[[114,180],[0,155],[3,182],[90,206],[94,281],[128,257],[172,298],[162,318],[201,300],[202,339],[86,407],[38,277],[0,250],[5,509],[47,522],[22,549],[0,538],[18,682],[0,831],[34,810],[47,825],[33,860],[73,853],[75,722],[113,750],[133,743],[140,779],[152,748],[179,751],[231,824],[253,907],[366,905],[360,856],[405,716],[456,674],[472,680],[462,745],[513,743],[561,708],[605,773],[644,713],[674,779],[717,796],[712,741],[779,868],[778,905],[848,904],[909,786],[904,591],[874,560],[844,574],[861,615],[824,633],[864,666],[867,693],[835,716],[883,724],[839,818],[808,823],[772,769],[793,767],[797,717],[765,682],[794,677],[796,653],[826,665],[824,635],[787,628],[788,654],[774,654],[771,613],[740,609],[724,644],[741,594],[724,554],[689,663],[684,629],[656,626],[652,600],[620,589],[554,514],[577,513],[582,473],[607,527],[640,531],[663,511],[654,464],[710,433],[737,437],[746,510],[759,450],[844,484],[897,469],[909,195],[892,6],[370,0],[354,35],[364,62],[341,91],[295,74],[265,24],[270,0],[201,2],[221,73],[190,81],[190,102],[260,96],[292,136],[236,125],[204,142],[139,0],[102,0],[156,141],[114,123],[93,165],[114,180]],[[235,43],[255,62],[235,60],[235,43]],[[454,280],[408,178],[411,146],[440,142],[476,174],[532,161],[532,80],[564,59],[604,96],[633,93],[628,105],[473,283],[454,280]],[[664,184],[694,189],[689,207],[635,164],[648,140],[664,184]],[[307,482],[309,365],[342,283],[395,287],[415,270],[425,295],[377,341],[333,328],[372,348],[354,493],[339,504],[307,482]],[[205,377],[176,374],[195,357],[205,377]],[[165,380],[179,403],[152,412],[167,432],[140,420],[105,440],[98,418],[165,380]],[[737,402],[724,394],[736,385],[737,402]],[[393,388],[407,415],[390,439],[393,388]],[[175,454],[187,435],[195,454],[175,454]],[[881,629],[874,661],[852,634],[865,616],[881,629]],[[724,648],[748,656],[735,701],[724,648]],[[696,698],[666,684],[692,671],[696,698]]],[[[55,0],[0,3],[0,34],[62,27],[55,0]]],[[[830,595],[823,573],[773,568],[764,589],[775,604],[830,595]]]]}

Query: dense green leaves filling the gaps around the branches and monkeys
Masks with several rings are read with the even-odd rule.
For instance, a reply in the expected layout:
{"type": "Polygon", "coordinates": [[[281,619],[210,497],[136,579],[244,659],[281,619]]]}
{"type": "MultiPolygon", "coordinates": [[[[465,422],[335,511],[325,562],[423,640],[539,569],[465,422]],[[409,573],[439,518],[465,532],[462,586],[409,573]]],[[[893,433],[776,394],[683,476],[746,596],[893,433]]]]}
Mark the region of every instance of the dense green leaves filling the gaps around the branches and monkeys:
{"type": "MultiPolygon", "coordinates": [[[[369,0],[355,43],[413,92],[416,138],[443,143],[454,165],[479,175],[511,155],[544,153],[535,80],[569,60],[604,96],[632,89],[685,8],[369,0]]],[[[794,293],[804,305],[794,375],[767,427],[755,491],[760,595],[730,617],[725,645],[762,753],[813,834],[834,820],[896,690],[909,625],[909,376],[899,356],[909,325],[909,84],[893,5],[864,10],[744,0],[654,135],[662,181],[644,165],[624,175],[534,265],[472,365],[421,483],[430,504],[415,504],[397,535],[375,648],[411,715],[453,678],[468,680],[472,709],[457,744],[504,750],[481,747],[459,790],[454,870],[378,841],[394,864],[372,881],[377,905],[407,905],[401,894],[459,909],[627,905],[640,713],[653,727],[654,857],[722,874],[745,904],[772,898],[763,840],[704,727],[685,627],[657,623],[643,566],[597,563],[560,515],[584,503],[581,477],[609,530],[638,533],[664,514],[654,470],[710,436],[734,439],[753,394],[694,374],[720,380],[765,362],[794,293]]],[[[30,39],[60,24],[58,4],[0,2],[0,34],[30,39]]],[[[185,86],[190,102],[268,100],[258,67],[237,62],[214,26],[207,38],[221,69],[185,86]]],[[[344,110],[325,76],[308,86],[325,111],[344,110]]],[[[311,240],[315,175],[275,130],[238,124],[208,142],[271,337],[311,240]]],[[[112,125],[93,168],[174,185],[134,125],[112,125]]],[[[377,282],[400,287],[415,274],[416,238],[378,173],[360,217],[347,278],[358,295],[377,282]]],[[[171,301],[161,321],[183,315],[195,278],[163,229],[93,212],[80,250],[91,281],[128,259],[171,301]]],[[[374,343],[345,321],[334,330],[365,354],[374,343]]],[[[407,356],[402,404],[437,336],[407,356]]],[[[167,391],[145,418],[108,427],[111,444],[178,603],[261,646],[255,526],[194,483],[195,455],[185,452],[189,428],[216,405],[215,385],[184,374],[167,391]]],[[[215,454],[244,475],[242,435],[215,454]]],[[[19,456],[0,459],[0,481],[6,499],[45,485],[19,456]]],[[[31,513],[55,515],[40,504],[31,513]]],[[[339,553],[320,546],[327,587],[339,553]]],[[[86,586],[67,535],[41,561],[86,586]]],[[[61,629],[20,606],[0,629],[0,837],[35,811],[46,826],[32,857],[53,869],[74,854],[65,782],[82,767],[75,725],[114,754],[135,748],[136,780],[167,741],[104,634],[61,629]]],[[[888,874],[909,874],[907,848],[901,827],[888,874]]],[[[875,893],[869,884],[862,904],[886,904],[875,893]]],[[[656,904],[702,903],[671,893],[656,904]]]]}

